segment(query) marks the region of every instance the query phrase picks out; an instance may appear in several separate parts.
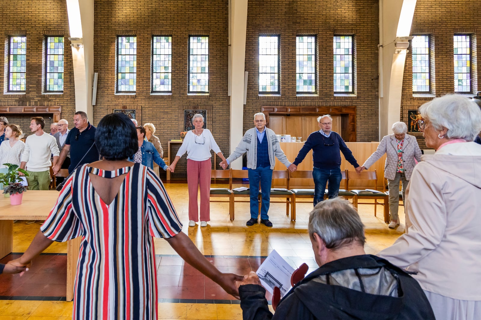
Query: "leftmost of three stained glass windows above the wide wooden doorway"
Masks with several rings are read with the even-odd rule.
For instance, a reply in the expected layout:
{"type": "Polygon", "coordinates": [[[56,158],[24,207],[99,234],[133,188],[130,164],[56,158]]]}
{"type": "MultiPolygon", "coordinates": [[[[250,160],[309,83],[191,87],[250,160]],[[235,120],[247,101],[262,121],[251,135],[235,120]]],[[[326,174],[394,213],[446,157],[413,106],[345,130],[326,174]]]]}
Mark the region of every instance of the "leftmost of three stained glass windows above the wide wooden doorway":
{"type": "Polygon", "coordinates": [[[259,93],[279,92],[279,36],[259,36],[259,93]]]}

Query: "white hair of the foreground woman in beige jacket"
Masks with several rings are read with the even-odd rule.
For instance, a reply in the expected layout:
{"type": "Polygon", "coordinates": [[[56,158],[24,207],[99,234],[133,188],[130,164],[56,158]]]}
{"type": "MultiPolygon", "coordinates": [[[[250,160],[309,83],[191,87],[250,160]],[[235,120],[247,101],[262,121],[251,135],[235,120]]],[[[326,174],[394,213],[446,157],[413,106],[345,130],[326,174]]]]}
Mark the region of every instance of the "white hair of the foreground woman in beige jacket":
{"type": "Polygon", "coordinates": [[[481,131],[481,109],[463,95],[434,98],[419,107],[421,116],[436,130],[447,129],[446,137],[473,141],[481,131]]]}

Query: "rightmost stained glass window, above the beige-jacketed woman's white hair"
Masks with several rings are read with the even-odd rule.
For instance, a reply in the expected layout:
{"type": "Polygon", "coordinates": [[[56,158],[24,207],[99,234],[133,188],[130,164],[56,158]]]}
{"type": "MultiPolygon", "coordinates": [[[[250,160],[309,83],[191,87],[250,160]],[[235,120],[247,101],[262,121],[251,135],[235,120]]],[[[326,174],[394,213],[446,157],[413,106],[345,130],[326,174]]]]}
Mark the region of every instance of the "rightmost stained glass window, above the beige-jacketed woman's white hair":
{"type": "Polygon", "coordinates": [[[454,91],[471,92],[471,37],[454,36],[454,91]]]}

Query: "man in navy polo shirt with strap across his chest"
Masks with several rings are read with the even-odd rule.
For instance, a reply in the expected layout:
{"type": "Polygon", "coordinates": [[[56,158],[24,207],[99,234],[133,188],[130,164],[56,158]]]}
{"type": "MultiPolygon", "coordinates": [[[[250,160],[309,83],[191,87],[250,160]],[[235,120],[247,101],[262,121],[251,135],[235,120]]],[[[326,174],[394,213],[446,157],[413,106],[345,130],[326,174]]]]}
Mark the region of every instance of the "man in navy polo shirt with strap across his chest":
{"type": "Polygon", "coordinates": [[[53,174],[57,174],[62,167],[63,161],[70,151],[70,166],[68,172],[74,171],[77,165],[83,165],[99,160],[97,146],[90,147],[95,142],[95,127],[92,126],[83,111],[77,111],[74,115],[75,128],[70,130],[67,140],[62,148],[57,165],[53,167],[53,174]],[[89,151],[90,149],[90,151],[89,151]],[[88,153],[87,153],[88,152],[88,153]],[[85,155],[85,157],[84,157],[85,155]],[[82,159],[82,157],[84,157],[82,159]],[[82,160],[80,162],[80,160],[82,160]]]}

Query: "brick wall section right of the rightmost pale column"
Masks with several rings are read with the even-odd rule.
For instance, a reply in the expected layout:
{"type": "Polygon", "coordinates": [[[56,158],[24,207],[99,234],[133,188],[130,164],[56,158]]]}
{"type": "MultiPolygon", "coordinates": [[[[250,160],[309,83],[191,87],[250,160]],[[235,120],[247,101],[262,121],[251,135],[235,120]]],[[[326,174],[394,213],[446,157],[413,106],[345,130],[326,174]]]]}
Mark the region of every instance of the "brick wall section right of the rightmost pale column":
{"type": "MultiPolygon", "coordinates": [[[[412,56],[409,52],[403,78],[403,91],[401,97],[401,121],[409,125],[408,110],[416,110],[422,104],[441,96],[454,93],[454,34],[471,34],[472,48],[472,71],[471,87],[473,96],[478,90],[481,74],[477,68],[477,52],[480,52],[481,44],[477,41],[477,32],[481,30],[479,12],[480,1],[436,1],[418,0],[414,12],[412,34],[429,34],[431,41],[431,87],[430,95],[414,95],[412,92],[412,56]]],[[[418,137],[421,149],[426,148],[422,133],[413,133],[418,137]]]]}

